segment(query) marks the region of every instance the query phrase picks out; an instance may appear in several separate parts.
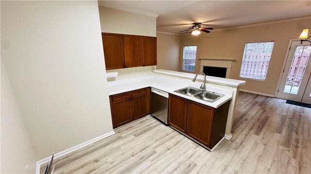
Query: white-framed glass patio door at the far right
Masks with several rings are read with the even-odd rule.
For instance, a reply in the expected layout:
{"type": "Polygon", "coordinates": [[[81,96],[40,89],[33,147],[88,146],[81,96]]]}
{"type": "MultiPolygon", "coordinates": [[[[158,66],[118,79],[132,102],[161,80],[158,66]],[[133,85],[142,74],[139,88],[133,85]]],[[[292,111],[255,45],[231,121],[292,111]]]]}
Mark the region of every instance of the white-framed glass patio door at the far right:
{"type": "Polygon", "coordinates": [[[307,85],[311,75],[311,46],[301,45],[300,41],[291,42],[277,97],[303,102],[305,92],[310,93],[307,85]]]}

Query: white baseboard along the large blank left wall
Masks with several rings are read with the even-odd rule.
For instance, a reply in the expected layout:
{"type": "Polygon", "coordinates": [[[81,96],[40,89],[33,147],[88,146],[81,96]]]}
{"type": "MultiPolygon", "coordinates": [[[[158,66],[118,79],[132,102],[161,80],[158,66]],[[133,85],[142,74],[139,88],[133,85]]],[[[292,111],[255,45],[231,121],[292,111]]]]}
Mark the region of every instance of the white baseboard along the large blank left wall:
{"type": "MultiPolygon", "coordinates": [[[[93,138],[93,139],[91,139],[91,140],[89,140],[89,141],[82,142],[81,144],[78,144],[78,145],[76,145],[76,146],[70,147],[70,148],[68,148],[68,149],[66,149],[66,150],[63,150],[63,151],[61,151],[61,152],[59,152],[59,153],[54,154],[54,159],[60,158],[60,157],[62,157],[62,156],[64,156],[64,155],[69,154],[69,153],[71,153],[71,152],[74,152],[74,151],[76,151],[76,150],[78,150],[78,149],[80,149],[80,148],[82,148],[82,147],[84,147],[84,146],[86,146],[86,145],[88,145],[88,144],[91,144],[91,143],[93,143],[93,142],[97,142],[97,141],[102,140],[102,139],[104,139],[104,138],[106,138],[106,137],[108,137],[108,136],[110,136],[110,135],[113,135],[113,134],[115,134],[115,132],[114,132],[114,131],[111,131],[111,132],[105,133],[105,134],[103,134],[103,135],[101,135],[101,136],[98,136],[98,137],[96,137],[96,138],[93,138]]],[[[44,159],[41,159],[41,160],[39,160],[39,161],[36,162],[35,174],[39,174],[39,173],[40,173],[40,166],[41,166],[42,164],[44,164],[44,163],[47,163],[51,157],[52,157],[52,156],[47,157],[47,158],[44,158],[44,159]]]]}

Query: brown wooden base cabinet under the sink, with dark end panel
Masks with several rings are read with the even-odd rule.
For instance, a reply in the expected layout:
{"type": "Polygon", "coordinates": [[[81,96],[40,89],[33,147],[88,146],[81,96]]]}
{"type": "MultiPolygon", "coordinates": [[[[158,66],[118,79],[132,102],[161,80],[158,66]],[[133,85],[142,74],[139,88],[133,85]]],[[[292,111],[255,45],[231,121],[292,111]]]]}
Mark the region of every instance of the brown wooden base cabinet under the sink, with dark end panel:
{"type": "Polygon", "coordinates": [[[229,101],[219,108],[169,96],[169,125],[203,145],[213,148],[225,136],[229,101]]]}

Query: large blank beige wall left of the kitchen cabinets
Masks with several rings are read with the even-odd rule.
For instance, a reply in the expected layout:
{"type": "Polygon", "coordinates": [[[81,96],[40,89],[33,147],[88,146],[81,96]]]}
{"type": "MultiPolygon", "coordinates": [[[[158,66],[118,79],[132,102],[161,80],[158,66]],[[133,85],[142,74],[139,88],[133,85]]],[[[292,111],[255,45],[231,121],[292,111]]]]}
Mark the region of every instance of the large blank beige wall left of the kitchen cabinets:
{"type": "Polygon", "coordinates": [[[1,1],[1,59],[36,160],[112,131],[103,52],[97,1],[1,1]]]}

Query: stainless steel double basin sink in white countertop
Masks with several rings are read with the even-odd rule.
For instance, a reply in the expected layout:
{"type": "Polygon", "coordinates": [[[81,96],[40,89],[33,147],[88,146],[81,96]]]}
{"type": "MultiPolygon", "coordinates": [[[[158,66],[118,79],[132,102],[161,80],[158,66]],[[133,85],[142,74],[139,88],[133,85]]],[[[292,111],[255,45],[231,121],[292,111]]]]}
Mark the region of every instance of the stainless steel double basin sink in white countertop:
{"type": "Polygon", "coordinates": [[[183,95],[188,95],[188,96],[191,96],[191,97],[194,97],[200,100],[204,100],[207,102],[211,102],[211,103],[225,96],[225,95],[210,92],[210,91],[202,91],[200,89],[192,88],[192,87],[182,88],[174,92],[183,94],[183,95]]]}

